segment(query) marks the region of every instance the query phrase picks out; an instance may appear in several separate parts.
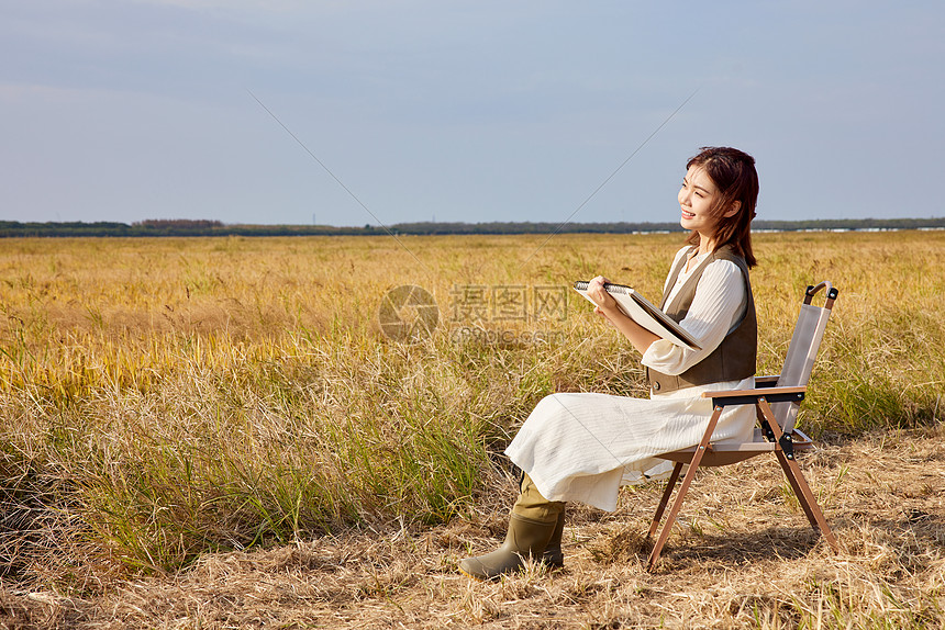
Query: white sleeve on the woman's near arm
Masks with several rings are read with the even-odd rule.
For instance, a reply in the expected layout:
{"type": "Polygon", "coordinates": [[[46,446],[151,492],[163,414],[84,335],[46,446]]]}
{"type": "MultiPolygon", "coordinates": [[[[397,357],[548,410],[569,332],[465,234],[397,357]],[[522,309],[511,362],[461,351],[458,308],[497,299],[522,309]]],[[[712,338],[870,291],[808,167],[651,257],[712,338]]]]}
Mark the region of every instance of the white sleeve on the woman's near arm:
{"type": "Polygon", "coordinates": [[[681,348],[659,339],[644,352],[641,362],[664,374],[681,374],[712,353],[742,317],[746,304],[738,267],[727,260],[714,260],[702,272],[689,312],[679,323],[702,349],[681,348]]]}

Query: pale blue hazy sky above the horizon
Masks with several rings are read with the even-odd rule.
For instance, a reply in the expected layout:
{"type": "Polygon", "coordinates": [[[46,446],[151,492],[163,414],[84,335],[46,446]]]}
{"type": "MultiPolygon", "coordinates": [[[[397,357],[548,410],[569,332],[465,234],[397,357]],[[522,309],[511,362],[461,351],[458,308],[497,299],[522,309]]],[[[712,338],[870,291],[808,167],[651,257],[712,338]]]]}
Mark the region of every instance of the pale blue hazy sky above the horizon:
{"type": "Polygon", "coordinates": [[[0,218],[559,222],[657,128],[572,221],[703,145],[760,218],[943,216],[943,60],[933,1],[0,0],[0,218]]]}

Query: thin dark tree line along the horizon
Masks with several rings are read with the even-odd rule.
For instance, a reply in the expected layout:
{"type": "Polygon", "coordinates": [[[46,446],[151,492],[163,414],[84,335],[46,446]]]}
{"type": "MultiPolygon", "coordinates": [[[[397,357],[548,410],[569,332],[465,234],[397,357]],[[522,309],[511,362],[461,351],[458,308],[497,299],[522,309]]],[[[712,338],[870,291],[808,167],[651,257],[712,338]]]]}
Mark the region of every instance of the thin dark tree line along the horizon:
{"type": "MultiPolygon", "coordinates": [[[[945,228],[940,218],[824,218],[810,221],[755,221],[754,229],[799,232],[808,229],[922,229],[945,228]]],[[[20,223],[0,221],[0,237],[142,237],[142,236],[376,236],[383,234],[635,234],[682,232],[678,223],[397,223],[386,227],[334,227],[330,225],[240,225],[207,220],[147,220],[132,224],[20,223]]]]}

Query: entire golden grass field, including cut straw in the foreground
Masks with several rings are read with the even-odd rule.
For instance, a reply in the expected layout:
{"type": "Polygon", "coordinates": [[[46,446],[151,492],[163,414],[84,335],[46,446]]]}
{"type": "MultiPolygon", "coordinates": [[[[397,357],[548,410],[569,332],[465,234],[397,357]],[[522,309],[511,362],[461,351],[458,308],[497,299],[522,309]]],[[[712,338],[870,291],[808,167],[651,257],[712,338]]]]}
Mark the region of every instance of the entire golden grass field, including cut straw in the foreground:
{"type": "Polygon", "coordinates": [[[759,372],[841,290],[800,418],[840,554],[759,459],[700,473],[655,574],[654,484],[575,506],[563,571],[459,576],[542,396],[646,395],[568,288],[656,300],[680,236],[545,240],[0,243],[0,627],[945,626],[942,232],[756,237],[759,372]],[[398,327],[405,284],[438,308],[398,327]]]}

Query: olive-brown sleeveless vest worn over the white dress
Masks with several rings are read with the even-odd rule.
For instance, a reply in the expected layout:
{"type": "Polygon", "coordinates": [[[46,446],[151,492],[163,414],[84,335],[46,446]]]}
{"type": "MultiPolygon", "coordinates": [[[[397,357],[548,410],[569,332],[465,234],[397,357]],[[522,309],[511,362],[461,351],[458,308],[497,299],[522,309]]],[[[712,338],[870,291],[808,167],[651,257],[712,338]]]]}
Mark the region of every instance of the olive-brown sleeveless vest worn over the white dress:
{"type": "MultiPolygon", "coordinates": [[[[690,250],[691,251],[691,250],[690,250]]],[[[699,279],[705,267],[713,260],[730,260],[738,266],[742,270],[742,275],[745,278],[745,290],[747,291],[747,304],[742,320],[735,325],[735,329],[730,331],[719,347],[711,355],[679,374],[672,376],[664,374],[656,370],[646,369],[646,380],[654,392],[665,394],[682,387],[692,385],[707,385],[709,383],[719,383],[722,381],[741,381],[747,379],[755,373],[755,362],[758,353],[758,322],[755,317],[755,300],[752,297],[752,282],[748,280],[748,266],[745,259],[736,256],[731,247],[721,247],[714,254],[705,257],[692,274],[686,280],[686,283],[676,294],[671,304],[666,304],[672,286],[676,285],[676,279],[686,266],[687,256],[682,256],[679,263],[676,265],[669,272],[669,281],[667,282],[667,291],[663,295],[663,302],[659,307],[675,322],[681,322],[689,312],[689,306],[692,304],[692,299],[696,296],[696,285],[699,284],[699,279]]]]}

